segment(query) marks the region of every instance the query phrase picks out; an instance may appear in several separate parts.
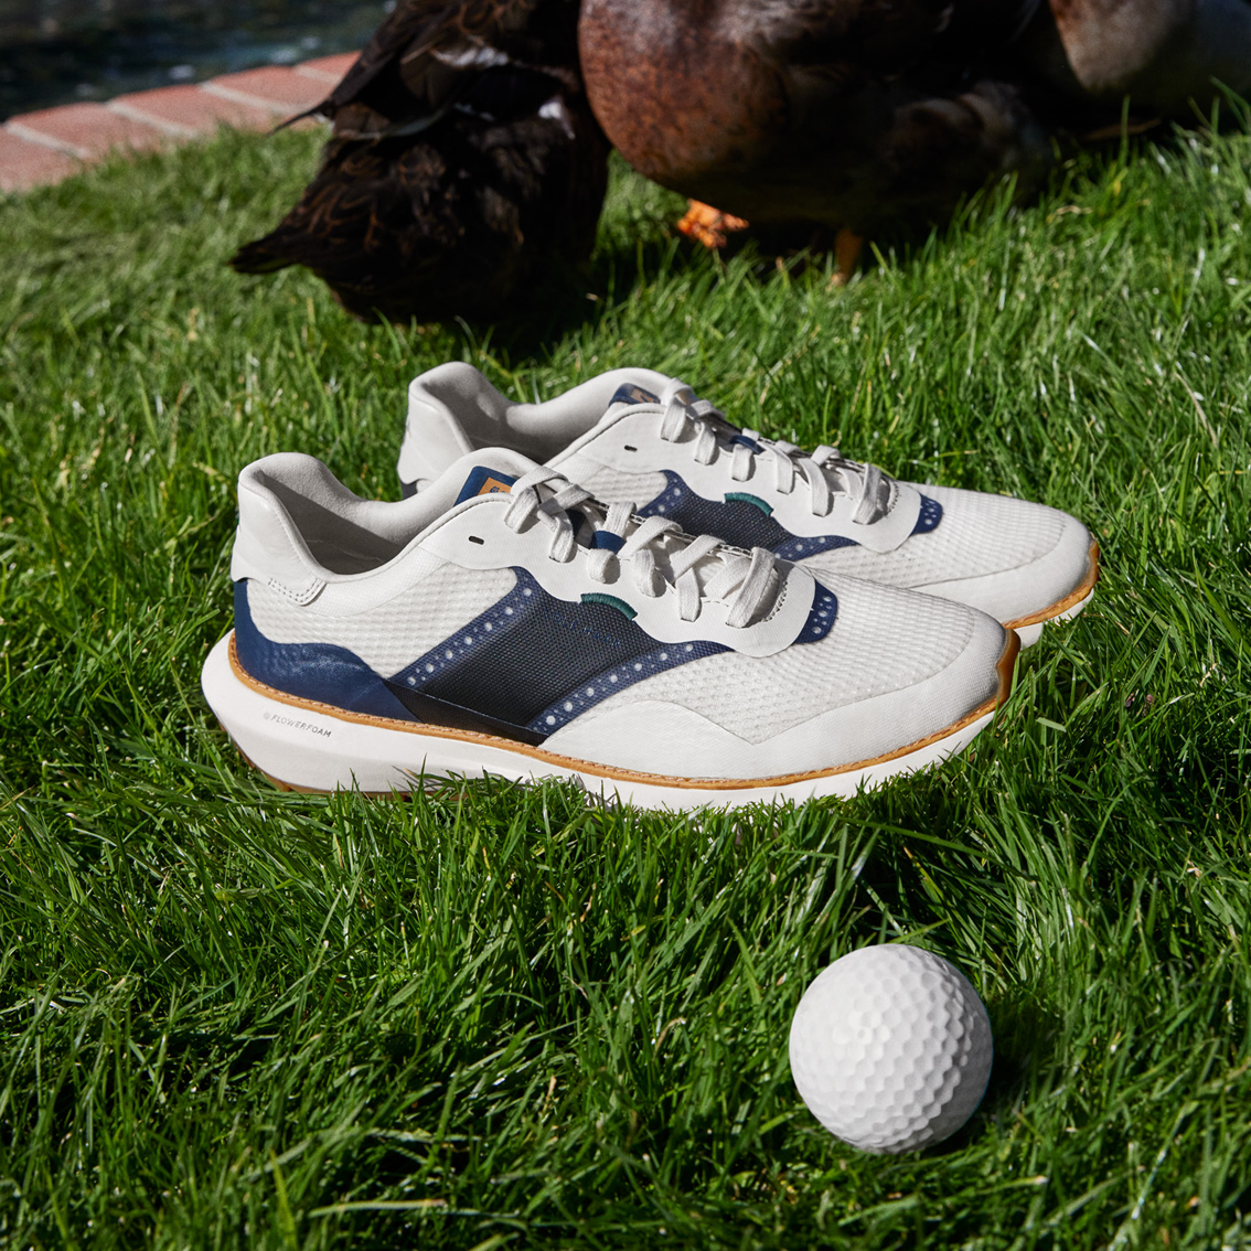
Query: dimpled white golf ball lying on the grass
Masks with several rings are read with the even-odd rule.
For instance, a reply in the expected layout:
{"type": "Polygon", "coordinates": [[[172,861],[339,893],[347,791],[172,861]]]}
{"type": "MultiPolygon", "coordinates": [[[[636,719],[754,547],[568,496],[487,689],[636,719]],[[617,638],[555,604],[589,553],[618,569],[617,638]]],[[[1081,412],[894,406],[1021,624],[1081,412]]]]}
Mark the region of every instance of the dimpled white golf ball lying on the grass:
{"type": "Polygon", "coordinates": [[[791,1073],[812,1115],[862,1151],[955,1133],[986,1092],[991,1022],[955,965],[919,947],[862,947],[804,991],[791,1073]]]}

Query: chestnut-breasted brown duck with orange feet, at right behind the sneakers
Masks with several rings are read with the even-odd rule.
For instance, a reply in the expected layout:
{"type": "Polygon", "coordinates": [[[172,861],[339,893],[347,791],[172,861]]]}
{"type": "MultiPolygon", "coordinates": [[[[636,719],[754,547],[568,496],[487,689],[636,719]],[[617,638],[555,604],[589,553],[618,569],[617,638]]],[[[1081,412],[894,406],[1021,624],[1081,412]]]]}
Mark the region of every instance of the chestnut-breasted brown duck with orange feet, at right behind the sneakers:
{"type": "Polygon", "coordinates": [[[836,284],[888,223],[1028,194],[1057,131],[1118,134],[1126,96],[1181,118],[1251,88],[1248,0],[583,0],[578,45],[609,143],[689,198],[679,229],[833,230],[836,284]]]}

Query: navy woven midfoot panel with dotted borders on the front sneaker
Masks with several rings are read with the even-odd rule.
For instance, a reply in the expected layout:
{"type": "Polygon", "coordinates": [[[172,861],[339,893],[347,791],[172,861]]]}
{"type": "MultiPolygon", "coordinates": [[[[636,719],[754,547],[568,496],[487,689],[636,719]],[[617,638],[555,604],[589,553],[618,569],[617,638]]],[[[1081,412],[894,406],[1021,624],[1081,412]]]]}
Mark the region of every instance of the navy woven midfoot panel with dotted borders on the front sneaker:
{"type": "Polygon", "coordinates": [[[397,673],[392,684],[549,734],[613,691],[724,651],[717,643],[658,643],[610,604],[568,603],[525,569],[513,572],[517,585],[503,599],[397,673]]]}

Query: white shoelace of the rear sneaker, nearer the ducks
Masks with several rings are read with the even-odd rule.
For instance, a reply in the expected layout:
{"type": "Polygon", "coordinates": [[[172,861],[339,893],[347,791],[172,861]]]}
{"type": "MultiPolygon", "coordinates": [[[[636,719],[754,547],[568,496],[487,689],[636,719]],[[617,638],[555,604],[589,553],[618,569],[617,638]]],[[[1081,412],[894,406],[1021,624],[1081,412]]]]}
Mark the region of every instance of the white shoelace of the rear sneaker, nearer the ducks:
{"type": "Polygon", "coordinates": [[[718,453],[724,450],[717,438],[714,423],[726,428],[726,437],[733,440],[729,474],[734,482],[747,482],[756,472],[757,460],[772,460],[773,484],[777,490],[789,495],[797,482],[806,482],[812,494],[811,507],[816,517],[828,517],[834,504],[834,495],[851,495],[857,487],[859,498],[853,520],[868,524],[887,510],[889,479],[877,465],[846,460],[838,448],[824,443],[808,455],[794,443],[767,439],[756,430],[737,430],[727,422],[726,414],[719,408],[706,399],[698,399],[696,393],[677,378],[672,379],[661,393],[661,403],[664,405],[661,438],[676,443],[688,425],[693,428],[694,458],[699,464],[712,464],[718,453]]]}

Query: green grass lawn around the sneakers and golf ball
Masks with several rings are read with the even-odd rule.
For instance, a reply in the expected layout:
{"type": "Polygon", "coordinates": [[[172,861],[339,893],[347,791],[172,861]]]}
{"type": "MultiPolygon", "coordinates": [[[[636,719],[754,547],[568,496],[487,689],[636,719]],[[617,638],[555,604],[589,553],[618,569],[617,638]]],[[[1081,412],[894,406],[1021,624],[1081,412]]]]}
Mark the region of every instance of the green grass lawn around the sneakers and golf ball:
{"type": "Polygon", "coordinates": [[[0,201],[0,1243],[1251,1241],[1251,136],[1083,158],[844,290],[697,253],[618,170],[577,315],[494,332],[223,266],[315,145],[0,201]],[[404,385],[453,357],[539,395],[678,373],[1076,512],[1105,577],[975,752],[854,802],[279,794],[198,684],[235,474],[300,449],[394,498],[404,385]],[[883,1158],[786,1035],[897,938],[970,975],[997,1058],[955,1140],[883,1158]]]}

